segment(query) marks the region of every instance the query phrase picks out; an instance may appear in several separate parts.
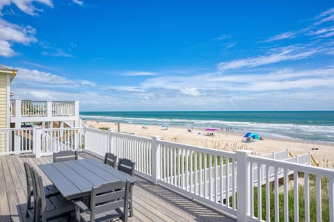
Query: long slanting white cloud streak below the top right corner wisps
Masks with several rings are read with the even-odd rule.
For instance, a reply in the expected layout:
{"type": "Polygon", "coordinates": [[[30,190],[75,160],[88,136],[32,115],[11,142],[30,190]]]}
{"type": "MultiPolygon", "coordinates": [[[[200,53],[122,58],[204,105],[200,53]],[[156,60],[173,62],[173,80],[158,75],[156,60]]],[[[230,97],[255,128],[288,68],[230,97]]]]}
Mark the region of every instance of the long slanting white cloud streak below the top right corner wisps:
{"type": "Polygon", "coordinates": [[[306,50],[298,46],[287,46],[276,49],[276,51],[279,52],[271,53],[268,56],[256,56],[253,58],[232,60],[230,62],[221,62],[218,64],[218,69],[223,71],[228,69],[239,69],[243,67],[258,67],[261,65],[268,65],[287,60],[300,60],[303,58],[308,58],[317,53],[317,49],[306,50]]]}

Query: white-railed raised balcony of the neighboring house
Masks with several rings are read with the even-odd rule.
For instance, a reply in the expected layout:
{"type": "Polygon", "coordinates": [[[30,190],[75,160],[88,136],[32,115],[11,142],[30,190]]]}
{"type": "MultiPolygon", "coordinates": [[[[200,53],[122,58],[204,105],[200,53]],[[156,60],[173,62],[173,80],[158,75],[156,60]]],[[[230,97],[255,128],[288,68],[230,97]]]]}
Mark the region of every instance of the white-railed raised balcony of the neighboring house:
{"type": "Polygon", "coordinates": [[[78,121],[79,101],[10,101],[10,123],[78,121]]]}

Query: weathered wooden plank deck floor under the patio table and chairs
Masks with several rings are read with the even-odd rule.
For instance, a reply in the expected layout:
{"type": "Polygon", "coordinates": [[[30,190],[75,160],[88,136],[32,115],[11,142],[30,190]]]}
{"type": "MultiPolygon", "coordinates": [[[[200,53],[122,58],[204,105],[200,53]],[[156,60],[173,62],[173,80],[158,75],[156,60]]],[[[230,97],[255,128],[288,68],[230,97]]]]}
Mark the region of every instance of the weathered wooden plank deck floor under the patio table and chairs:
{"type": "MultiPolygon", "coordinates": [[[[93,157],[80,154],[79,158],[93,157]]],[[[52,162],[52,157],[35,159],[33,155],[0,157],[0,221],[32,221],[26,219],[26,178],[23,162],[38,169],[45,185],[49,179],[39,169],[39,164],[52,162]]],[[[134,186],[134,217],[129,221],[235,221],[211,210],[205,205],[184,198],[173,191],[138,177],[134,186]]],[[[65,221],[58,219],[54,221],[65,221]]]]}

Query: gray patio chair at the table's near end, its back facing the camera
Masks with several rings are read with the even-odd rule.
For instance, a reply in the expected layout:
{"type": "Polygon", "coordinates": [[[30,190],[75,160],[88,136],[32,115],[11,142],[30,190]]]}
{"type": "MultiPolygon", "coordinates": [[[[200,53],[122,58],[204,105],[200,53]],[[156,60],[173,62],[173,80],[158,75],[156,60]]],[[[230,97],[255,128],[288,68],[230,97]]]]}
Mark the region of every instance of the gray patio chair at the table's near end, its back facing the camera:
{"type": "Polygon", "coordinates": [[[127,221],[130,182],[108,182],[92,187],[90,207],[82,201],[75,203],[77,221],[111,221],[120,218],[127,221]],[[122,209],[121,209],[122,208],[122,209]]]}

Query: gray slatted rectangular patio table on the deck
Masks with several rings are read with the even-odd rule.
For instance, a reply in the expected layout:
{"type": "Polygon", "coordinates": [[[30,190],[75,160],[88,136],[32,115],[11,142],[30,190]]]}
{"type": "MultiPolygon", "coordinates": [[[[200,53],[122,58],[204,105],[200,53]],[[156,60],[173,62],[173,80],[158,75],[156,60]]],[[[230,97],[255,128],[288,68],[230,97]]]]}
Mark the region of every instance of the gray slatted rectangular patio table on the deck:
{"type": "Polygon", "coordinates": [[[67,200],[89,196],[93,186],[105,182],[129,180],[133,186],[138,181],[95,159],[54,162],[39,167],[67,200]]]}

